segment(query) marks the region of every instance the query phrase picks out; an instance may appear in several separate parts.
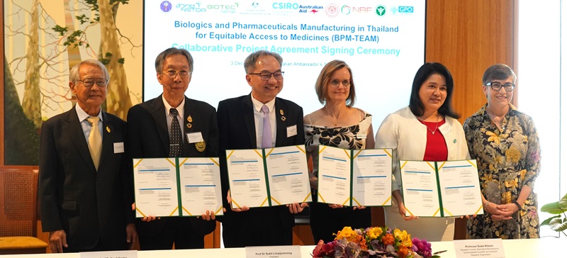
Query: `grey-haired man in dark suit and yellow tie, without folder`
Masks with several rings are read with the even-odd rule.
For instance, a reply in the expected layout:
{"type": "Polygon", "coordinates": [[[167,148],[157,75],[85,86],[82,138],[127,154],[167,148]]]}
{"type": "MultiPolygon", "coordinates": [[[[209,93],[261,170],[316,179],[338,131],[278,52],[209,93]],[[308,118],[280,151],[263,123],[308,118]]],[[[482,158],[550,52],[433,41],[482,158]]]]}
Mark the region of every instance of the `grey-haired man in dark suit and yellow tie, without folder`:
{"type": "Polygon", "coordinates": [[[108,79],[97,60],[72,67],[77,105],[41,128],[38,199],[51,252],[128,249],[135,241],[126,123],[101,108],[108,79]]]}

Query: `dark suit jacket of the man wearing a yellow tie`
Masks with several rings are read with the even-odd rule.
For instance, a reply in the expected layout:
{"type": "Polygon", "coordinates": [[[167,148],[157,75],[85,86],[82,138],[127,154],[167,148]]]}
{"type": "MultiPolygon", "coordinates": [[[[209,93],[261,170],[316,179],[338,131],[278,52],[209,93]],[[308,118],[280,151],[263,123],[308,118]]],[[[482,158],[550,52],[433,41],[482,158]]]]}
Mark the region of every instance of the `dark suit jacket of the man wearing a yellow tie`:
{"type": "Polygon", "coordinates": [[[40,200],[43,231],[65,230],[72,249],[127,247],[126,225],[134,222],[131,161],[116,153],[125,142],[126,123],[103,112],[99,171],[94,168],[77,111],[43,123],[40,142],[40,200]],[[130,168],[129,168],[130,167],[130,168]]]}

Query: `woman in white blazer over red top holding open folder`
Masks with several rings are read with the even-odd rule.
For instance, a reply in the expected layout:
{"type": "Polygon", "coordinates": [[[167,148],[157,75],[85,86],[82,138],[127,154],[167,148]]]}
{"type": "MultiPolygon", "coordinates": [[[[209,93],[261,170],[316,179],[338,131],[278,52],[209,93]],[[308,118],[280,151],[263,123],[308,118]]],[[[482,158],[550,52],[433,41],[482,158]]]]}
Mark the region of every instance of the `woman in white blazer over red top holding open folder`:
{"type": "Polygon", "coordinates": [[[393,149],[392,206],[384,207],[386,226],[428,241],[453,240],[454,218],[406,216],[399,160],[469,159],[464,130],[451,107],[453,77],[443,64],[428,62],[413,79],[410,106],[388,115],[376,133],[377,148],[393,149]]]}

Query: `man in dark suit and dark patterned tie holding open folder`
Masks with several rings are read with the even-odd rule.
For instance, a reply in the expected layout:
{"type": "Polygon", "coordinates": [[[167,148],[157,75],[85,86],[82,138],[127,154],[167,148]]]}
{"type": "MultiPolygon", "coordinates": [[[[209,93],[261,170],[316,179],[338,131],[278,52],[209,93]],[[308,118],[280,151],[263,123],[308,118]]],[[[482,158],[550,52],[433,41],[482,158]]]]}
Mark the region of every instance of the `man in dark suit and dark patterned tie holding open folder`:
{"type": "MultiPolygon", "coordinates": [[[[218,127],[213,106],[189,99],[193,57],[189,51],[168,48],[155,60],[163,94],[128,111],[128,147],[134,158],[218,157],[218,127]]],[[[154,216],[138,221],[140,249],[196,249],[215,230],[215,215],[201,218],[154,216]]]]}

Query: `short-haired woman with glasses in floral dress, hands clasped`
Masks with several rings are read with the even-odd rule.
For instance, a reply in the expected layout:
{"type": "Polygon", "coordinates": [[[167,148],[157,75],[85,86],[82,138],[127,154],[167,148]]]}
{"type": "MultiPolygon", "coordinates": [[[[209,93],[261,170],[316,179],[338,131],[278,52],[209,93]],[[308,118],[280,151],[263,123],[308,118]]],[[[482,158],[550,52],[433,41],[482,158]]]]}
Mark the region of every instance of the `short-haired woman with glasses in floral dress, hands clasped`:
{"type": "Polygon", "coordinates": [[[484,215],[467,223],[468,238],[539,237],[537,196],[539,138],[532,118],[512,106],[516,74],[494,64],[483,75],[488,99],[464,123],[468,151],[478,163],[484,215]]]}

